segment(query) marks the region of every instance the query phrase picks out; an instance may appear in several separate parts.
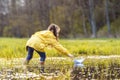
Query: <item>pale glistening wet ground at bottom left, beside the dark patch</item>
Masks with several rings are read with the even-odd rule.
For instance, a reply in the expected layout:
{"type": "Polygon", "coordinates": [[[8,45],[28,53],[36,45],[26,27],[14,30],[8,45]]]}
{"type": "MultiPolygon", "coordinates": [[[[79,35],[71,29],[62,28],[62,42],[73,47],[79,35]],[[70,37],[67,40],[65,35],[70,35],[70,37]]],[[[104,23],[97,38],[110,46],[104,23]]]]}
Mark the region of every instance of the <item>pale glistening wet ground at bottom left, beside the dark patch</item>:
{"type": "Polygon", "coordinates": [[[69,71],[68,69],[61,70],[60,65],[57,68],[45,67],[45,72],[41,72],[38,66],[1,68],[0,80],[64,80],[67,79],[65,73],[69,71]]]}

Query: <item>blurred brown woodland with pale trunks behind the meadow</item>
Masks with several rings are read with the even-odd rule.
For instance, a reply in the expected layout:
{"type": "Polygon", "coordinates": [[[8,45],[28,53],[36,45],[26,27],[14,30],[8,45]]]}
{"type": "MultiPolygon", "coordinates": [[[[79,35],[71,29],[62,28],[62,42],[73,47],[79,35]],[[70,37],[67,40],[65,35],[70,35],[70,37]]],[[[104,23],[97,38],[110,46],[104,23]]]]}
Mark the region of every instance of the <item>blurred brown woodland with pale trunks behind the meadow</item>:
{"type": "Polygon", "coordinates": [[[120,0],[0,0],[0,36],[30,37],[61,27],[61,37],[120,37],[120,0]]]}

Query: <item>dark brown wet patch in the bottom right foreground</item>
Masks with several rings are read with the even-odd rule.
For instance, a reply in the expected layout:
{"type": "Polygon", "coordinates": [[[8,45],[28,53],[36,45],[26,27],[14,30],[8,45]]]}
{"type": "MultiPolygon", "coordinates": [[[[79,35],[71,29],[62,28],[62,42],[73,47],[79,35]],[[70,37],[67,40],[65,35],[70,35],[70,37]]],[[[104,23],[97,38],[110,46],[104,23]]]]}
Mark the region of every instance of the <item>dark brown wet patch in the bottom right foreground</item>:
{"type": "Polygon", "coordinates": [[[71,72],[72,80],[120,80],[120,66],[101,67],[100,65],[76,68],[71,72]]]}

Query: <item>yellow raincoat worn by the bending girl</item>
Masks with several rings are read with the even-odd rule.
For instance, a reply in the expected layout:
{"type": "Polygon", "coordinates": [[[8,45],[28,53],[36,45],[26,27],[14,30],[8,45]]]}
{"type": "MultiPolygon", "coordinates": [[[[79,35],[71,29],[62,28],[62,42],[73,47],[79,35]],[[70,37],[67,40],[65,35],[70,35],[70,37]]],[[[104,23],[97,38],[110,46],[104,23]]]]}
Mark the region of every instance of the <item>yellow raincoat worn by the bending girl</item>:
{"type": "Polygon", "coordinates": [[[57,40],[53,33],[49,30],[36,32],[27,41],[26,46],[32,47],[37,51],[45,52],[44,49],[48,45],[54,47],[59,52],[68,55],[69,52],[57,40]]]}

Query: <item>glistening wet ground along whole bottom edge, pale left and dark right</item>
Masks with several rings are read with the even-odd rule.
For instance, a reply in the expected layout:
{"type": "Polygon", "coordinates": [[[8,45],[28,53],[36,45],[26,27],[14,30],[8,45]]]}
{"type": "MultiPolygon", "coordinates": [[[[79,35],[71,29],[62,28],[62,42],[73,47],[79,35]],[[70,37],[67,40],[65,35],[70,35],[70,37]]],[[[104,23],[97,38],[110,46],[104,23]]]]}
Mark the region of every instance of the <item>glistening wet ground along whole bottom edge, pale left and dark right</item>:
{"type": "Polygon", "coordinates": [[[0,70],[1,80],[120,80],[120,65],[86,66],[82,68],[46,68],[41,73],[39,67],[2,68],[0,70]],[[66,74],[68,73],[68,74],[66,74]],[[69,75],[70,74],[70,75],[69,75]]]}

